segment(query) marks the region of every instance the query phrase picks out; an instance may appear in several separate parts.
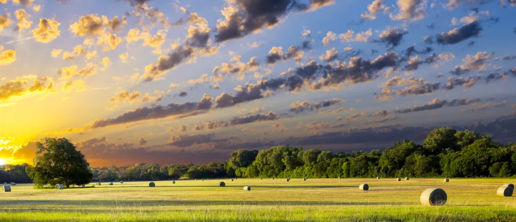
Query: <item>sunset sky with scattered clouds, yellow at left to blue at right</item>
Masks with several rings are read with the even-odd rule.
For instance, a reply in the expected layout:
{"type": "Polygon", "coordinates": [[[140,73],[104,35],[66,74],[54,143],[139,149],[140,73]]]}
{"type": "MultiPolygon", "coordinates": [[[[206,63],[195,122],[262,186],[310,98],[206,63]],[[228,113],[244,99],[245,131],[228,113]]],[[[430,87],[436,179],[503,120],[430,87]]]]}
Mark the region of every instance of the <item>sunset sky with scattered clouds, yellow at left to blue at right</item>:
{"type": "Polygon", "coordinates": [[[516,141],[514,0],[0,0],[0,163],[516,141]]]}

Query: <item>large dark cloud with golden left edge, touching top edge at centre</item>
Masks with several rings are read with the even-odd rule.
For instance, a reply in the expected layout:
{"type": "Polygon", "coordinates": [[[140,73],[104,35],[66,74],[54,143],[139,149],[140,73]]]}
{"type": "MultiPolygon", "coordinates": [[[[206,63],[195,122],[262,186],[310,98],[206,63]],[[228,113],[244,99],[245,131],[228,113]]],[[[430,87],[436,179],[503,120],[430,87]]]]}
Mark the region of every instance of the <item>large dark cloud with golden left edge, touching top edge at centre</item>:
{"type": "Polygon", "coordinates": [[[332,4],[330,0],[311,0],[310,5],[295,0],[235,0],[221,11],[225,19],[219,20],[216,42],[225,42],[247,36],[263,27],[277,25],[289,12],[315,10],[332,4]]]}

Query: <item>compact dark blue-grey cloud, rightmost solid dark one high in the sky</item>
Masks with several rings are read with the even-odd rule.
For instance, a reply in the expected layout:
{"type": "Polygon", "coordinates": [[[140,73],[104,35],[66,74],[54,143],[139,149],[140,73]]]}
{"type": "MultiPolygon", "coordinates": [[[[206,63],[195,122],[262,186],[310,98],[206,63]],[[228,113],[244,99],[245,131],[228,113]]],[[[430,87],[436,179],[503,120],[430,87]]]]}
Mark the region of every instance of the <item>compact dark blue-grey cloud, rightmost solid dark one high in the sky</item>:
{"type": "Polygon", "coordinates": [[[436,35],[437,43],[439,44],[457,44],[463,40],[471,37],[479,36],[482,31],[478,21],[466,24],[460,28],[455,28],[447,33],[436,35]]]}

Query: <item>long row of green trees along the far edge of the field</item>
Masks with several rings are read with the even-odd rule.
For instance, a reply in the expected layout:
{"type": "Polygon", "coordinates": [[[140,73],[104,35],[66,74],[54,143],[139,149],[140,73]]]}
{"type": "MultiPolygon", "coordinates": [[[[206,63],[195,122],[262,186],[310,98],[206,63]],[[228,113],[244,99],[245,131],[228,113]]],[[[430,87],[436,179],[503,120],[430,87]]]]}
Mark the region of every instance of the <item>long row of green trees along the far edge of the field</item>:
{"type": "MultiPolygon", "coordinates": [[[[29,165],[24,166],[31,168],[29,165]]],[[[512,142],[503,145],[489,135],[473,131],[440,128],[431,131],[423,144],[404,140],[384,151],[333,153],[277,146],[260,151],[237,150],[231,153],[227,162],[222,163],[138,163],[133,166],[110,165],[88,169],[94,181],[223,177],[513,177],[516,176],[516,145],[512,142]]],[[[10,177],[26,177],[9,172],[7,174],[10,177]]]]}

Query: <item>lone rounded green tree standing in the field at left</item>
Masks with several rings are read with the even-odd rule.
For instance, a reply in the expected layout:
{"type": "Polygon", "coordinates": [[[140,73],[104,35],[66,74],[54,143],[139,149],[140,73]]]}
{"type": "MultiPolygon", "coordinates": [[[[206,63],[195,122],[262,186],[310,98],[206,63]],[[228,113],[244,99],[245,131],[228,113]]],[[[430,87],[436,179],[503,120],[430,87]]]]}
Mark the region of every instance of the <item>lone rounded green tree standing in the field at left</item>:
{"type": "Polygon", "coordinates": [[[44,138],[36,142],[34,167],[27,175],[39,186],[47,184],[82,185],[92,181],[93,173],[84,155],[66,138],[44,138]]]}

